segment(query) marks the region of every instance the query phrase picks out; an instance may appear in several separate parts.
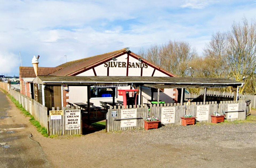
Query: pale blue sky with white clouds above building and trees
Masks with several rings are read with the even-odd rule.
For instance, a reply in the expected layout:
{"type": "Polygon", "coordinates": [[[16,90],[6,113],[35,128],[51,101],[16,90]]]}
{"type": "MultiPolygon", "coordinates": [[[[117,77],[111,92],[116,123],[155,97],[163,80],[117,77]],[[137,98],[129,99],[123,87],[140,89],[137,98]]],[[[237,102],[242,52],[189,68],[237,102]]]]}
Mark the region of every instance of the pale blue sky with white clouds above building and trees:
{"type": "Polygon", "coordinates": [[[256,0],[0,0],[0,75],[168,41],[202,54],[217,31],[255,20],[256,0]],[[65,57],[66,55],[66,57],[65,57]],[[20,59],[21,56],[21,59],[20,59]]]}

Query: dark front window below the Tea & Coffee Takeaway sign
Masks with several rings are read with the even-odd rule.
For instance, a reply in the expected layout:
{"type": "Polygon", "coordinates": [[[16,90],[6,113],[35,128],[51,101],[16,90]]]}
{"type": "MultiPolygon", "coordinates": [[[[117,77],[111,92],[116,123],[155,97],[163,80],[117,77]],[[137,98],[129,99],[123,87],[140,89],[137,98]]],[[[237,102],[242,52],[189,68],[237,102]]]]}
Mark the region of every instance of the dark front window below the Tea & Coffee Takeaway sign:
{"type": "MultiPolygon", "coordinates": [[[[113,87],[111,88],[113,89],[113,87]]],[[[113,97],[112,91],[106,87],[90,87],[91,98],[107,98],[113,97]]],[[[117,88],[115,87],[115,98],[117,97],[117,88]]]]}

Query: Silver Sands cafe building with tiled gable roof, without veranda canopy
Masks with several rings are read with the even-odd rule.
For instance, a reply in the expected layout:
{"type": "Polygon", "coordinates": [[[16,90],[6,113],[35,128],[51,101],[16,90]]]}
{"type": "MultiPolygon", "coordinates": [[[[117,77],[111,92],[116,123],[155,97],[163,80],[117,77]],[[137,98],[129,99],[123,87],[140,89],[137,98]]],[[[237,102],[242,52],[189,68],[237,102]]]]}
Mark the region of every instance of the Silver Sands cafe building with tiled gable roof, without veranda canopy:
{"type": "MultiPolygon", "coordinates": [[[[117,79],[119,77],[176,77],[174,74],[131,52],[129,48],[66,62],[56,68],[59,70],[49,74],[49,76],[115,77],[117,79]]],[[[178,101],[178,90],[175,88],[159,89],[158,91],[158,89],[152,89],[151,87],[137,83],[106,84],[107,85],[95,81],[94,84],[87,87],[88,85],[65,83],[58,86],[52,85],[50,86],[50,89],[45,88],[43,85],[41,86],[42,91],[47,93],[44,93],[45,98],[43,98],[42,104],[48,108],[56,106],[56,103],[62,107],[66,107],[69,104],[74,104],[76,102],[91,102],[96,106],[100,106],[100,101],[112,101],[113,94],[115,102],[123,101],[123,96],[118,95],[118,90],[131,89],[138,90],[136,91],[136,104],[157,101],[158,97],[160,97],[160,101],[165,103],[174,103],[178,101]],[[87,96],[88,93],[89,96],[87,96]],[[51,96],[53,94],[58,96],[51,96]],[[49,100],[49,98],[51,100],[49,100]]]]}

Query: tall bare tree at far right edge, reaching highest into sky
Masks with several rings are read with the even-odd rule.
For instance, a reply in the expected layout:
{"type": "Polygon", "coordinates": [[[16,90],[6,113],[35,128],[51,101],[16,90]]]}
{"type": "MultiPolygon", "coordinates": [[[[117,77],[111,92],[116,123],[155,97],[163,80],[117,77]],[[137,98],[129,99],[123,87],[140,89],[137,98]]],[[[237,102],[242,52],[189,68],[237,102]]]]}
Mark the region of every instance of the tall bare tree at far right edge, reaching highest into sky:
{"type": "MultiPolygon", "coordinates": [[[[236,81],[245,82],[245,85],[240,90],[243,93],[250,86],[249,82],[254,76],[256,66],[255,21],[249,25],[247,19],[244,18],[242,24],[233,23],[227,39],[227,64],[230,68],[229,77],[236,81]]],[[[255,88],[255,84],[253,87],[255,88]]]]}

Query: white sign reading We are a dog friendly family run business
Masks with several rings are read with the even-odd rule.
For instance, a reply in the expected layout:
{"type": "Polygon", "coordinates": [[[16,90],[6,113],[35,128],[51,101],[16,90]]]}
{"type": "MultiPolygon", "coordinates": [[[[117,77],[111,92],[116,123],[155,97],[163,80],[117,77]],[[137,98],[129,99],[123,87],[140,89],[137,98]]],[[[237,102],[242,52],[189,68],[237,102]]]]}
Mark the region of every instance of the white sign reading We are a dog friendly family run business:
{"type": "MultiPolygon", "coordinates": [[[[137,109],[121,110],[121,119],[137,118],[137,109]]],[[[137,119],[121,120],[121,127],[133,127],[137,125],[137,119]]]]}

